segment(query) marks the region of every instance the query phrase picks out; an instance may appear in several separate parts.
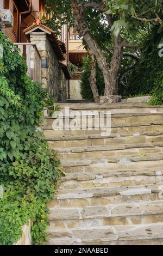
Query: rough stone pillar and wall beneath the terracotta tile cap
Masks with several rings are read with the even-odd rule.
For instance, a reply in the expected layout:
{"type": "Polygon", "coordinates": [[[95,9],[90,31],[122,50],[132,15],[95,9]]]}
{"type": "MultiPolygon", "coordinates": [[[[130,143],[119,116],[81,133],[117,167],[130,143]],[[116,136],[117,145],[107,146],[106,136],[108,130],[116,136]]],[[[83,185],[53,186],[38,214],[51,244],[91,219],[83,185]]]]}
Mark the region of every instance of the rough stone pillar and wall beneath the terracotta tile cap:
{"type": "Polygon", "coordinates": [[[46,88],[57,101],[65,101],[67,98],[66,77],[64,78],[65,75],[59,68],[59,59],[47,34],[32,32],[30,33],[30,41],[36,44],[41,55],[41,82],[43,88],[46,88]]]}

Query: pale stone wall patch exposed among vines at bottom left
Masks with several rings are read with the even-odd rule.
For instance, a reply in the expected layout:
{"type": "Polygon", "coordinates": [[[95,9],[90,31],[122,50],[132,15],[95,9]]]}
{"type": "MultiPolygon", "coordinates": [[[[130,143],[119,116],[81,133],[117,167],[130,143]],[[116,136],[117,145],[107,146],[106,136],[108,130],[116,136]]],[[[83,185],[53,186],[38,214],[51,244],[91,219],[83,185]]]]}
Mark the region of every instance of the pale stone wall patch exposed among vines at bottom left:
{"type": "Polygon", "coordinates": [[[32,221],[29,224],[23,225],[22,237],[14,245],[32,245],[32,238],[30,235],[30,228],[32,227],[32,221]]]}

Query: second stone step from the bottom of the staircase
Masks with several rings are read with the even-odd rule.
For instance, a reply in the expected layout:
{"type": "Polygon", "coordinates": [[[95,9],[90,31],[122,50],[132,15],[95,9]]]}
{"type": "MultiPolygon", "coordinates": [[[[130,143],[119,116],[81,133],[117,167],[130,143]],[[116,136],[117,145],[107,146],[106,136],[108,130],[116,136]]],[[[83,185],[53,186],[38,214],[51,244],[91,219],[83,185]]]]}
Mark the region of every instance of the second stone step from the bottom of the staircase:
{"type": "MultiPolygon", "coordinates": [[[[85,206],[78,208],[50,208],[49,220],[97,220],[106,221],[116,217],[163,215],[163,201],[134,204],[108,204],[105,206],[85,206]]],[[[115,220],[116,221],[116,220],[115,220]]],[[[102,224],[102,223],[101,223],[102,224]]],[[[107,225],[108,225],[107,224],[107,225]]],[[[129,223],[128,223],[129,224],[129,223]]],[[[101,226],[101,225],[99,225],[101,226]]]]}

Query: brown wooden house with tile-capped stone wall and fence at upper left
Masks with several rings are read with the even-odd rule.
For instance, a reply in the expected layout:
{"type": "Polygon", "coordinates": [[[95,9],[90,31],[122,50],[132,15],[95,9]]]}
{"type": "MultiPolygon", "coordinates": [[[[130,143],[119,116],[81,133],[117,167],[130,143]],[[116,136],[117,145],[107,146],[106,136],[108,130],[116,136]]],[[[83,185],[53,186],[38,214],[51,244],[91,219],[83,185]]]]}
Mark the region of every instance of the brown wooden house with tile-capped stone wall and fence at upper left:
{"type": "Polygon", "coordinates": [[[43,25],[46,14],[43,0],[0,0],[0,30],[20,48],[28,66],[28,75],[43,83],[57,101],[68,97],[70,75],[68,64],[68,28],[62,27],[61,36],[43,25]],[[12,26],[2,20],[4,10],[10,10],[12,26]]]}

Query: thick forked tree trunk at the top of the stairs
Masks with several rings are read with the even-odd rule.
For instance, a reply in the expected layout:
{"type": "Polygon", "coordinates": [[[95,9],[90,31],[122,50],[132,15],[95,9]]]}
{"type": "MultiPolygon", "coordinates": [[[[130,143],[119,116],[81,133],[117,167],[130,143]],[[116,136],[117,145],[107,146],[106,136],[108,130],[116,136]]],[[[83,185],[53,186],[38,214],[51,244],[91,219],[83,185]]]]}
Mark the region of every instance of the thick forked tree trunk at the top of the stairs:
{"type": "Polygon", "coordinates": [[[84,19],[84,7],[79,0],[70,0],[72,6],[73,16],[75,17],[74,21],[74,31],[78,31],[80,35],[83,36],[87,45],[89,46],[93,55],[96,56],[97,63],[99,68],[103,72],[104,82],[105,82],[105,96],[109,95],[117,95],[117,77],[118,70],[121,65],[122,60],[122,44],[121,37],[114,36],[114,53],[112,55],[110,66],[105,57],[105,54],[98,46],[96,41],[93,39],[89,29],[87,27],[87,23],[84,19]]]}

